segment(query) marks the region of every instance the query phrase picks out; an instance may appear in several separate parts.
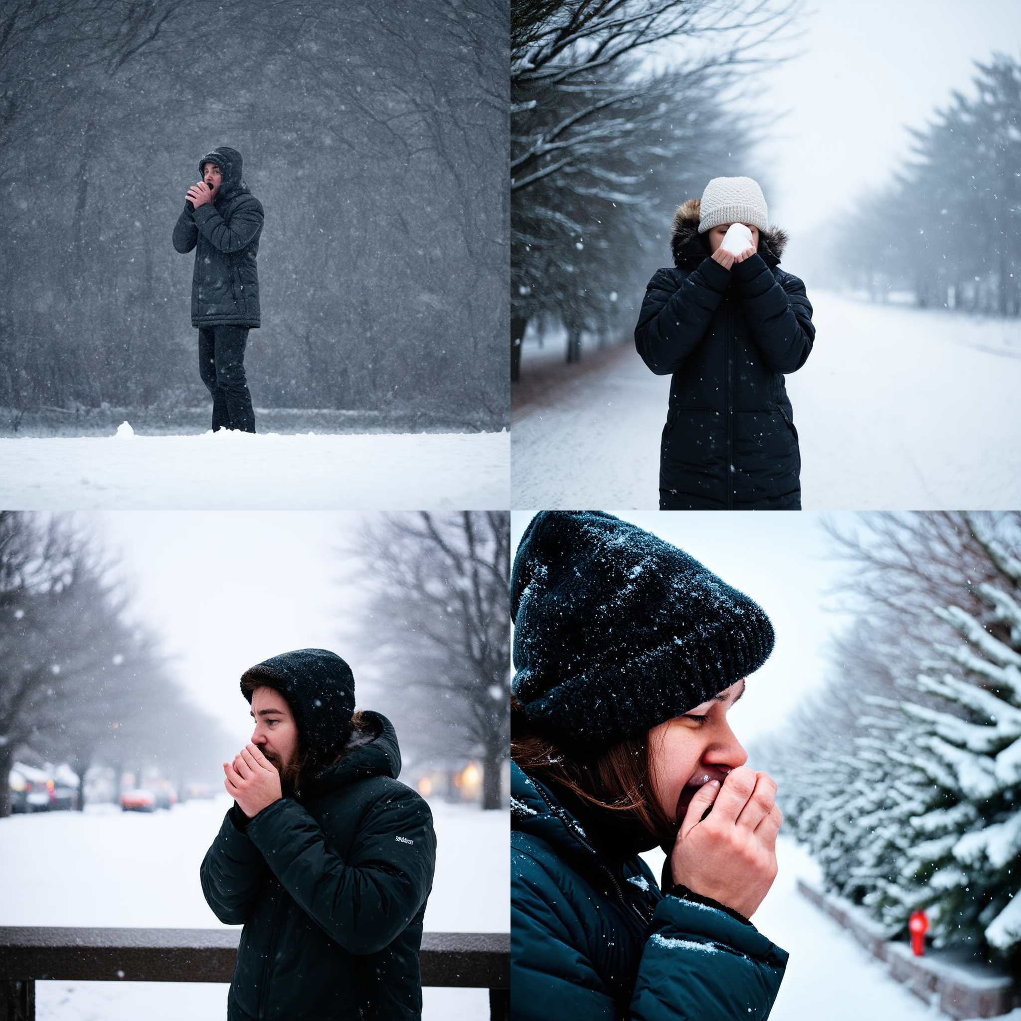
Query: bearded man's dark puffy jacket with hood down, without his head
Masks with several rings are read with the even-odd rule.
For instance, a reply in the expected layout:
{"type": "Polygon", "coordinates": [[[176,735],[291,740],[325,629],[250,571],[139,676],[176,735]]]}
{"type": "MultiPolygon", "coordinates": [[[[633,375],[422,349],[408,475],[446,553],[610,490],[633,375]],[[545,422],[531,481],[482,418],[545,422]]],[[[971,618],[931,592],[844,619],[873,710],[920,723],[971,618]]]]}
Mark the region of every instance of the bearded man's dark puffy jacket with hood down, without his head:
{"type": "Polygon", "coordinates": [[[229,1021],[417,1019],[419,949],[436,864],[432,813],[397,781],[386,717],[300,800],[248,820],[235,803],[206,853],[202,892],[243,923],[229,1021]]]}

